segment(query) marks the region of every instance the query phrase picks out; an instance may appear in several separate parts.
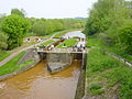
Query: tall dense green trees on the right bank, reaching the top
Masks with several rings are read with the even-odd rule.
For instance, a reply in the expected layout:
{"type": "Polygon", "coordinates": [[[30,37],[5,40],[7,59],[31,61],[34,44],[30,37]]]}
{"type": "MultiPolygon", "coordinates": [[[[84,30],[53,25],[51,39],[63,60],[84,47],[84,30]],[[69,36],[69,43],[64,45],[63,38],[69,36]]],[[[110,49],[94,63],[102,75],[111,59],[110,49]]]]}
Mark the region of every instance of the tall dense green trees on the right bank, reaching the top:
{"type": "Polygon", "coordinates": [[[103,35],[106,45],[116,45],[132,55],[132,1],[98,0],[89,12],[84,32],[103,35]]]}

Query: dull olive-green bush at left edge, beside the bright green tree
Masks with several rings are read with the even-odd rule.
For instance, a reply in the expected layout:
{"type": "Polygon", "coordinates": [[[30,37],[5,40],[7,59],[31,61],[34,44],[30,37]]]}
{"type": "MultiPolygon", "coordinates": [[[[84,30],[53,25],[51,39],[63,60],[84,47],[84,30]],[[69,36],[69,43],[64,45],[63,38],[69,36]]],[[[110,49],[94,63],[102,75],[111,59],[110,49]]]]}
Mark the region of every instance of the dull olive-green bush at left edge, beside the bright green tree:
{"type": "Polygon", "coordinates": [[[7,50],[8,47],[7,40],[8,40],[8,36],[4,35],[3,33],[0,33],[0,51],[7,50]]]}

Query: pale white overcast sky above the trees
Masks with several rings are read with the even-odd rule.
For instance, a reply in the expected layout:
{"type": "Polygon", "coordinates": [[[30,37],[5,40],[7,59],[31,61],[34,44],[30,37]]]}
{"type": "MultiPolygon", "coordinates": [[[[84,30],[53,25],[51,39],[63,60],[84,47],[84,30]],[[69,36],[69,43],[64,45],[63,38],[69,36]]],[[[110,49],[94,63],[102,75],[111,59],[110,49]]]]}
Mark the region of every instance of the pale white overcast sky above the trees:
{"type": "Polygon", "coordinates": [[[34,18],[75,18],[88,16],[97,0],[1,0],[0,12],[10,14],[11,9],[24,9],[28,16],[34,18]]]}

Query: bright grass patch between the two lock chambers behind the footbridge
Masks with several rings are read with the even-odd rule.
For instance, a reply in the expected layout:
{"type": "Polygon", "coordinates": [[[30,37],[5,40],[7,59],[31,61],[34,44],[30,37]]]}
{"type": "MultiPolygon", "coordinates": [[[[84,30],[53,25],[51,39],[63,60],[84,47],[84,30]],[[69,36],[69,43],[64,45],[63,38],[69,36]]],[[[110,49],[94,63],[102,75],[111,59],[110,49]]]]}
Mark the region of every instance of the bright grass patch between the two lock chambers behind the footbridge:
{"type": "Polygon", "coordinates": [[[68,47],[68,46],[74,46],[76,43],[77,43],[76,38],[65,40],[62,44],[59,44],[57,46],[57,48],[65,48],[65,47],[68,47]]]}

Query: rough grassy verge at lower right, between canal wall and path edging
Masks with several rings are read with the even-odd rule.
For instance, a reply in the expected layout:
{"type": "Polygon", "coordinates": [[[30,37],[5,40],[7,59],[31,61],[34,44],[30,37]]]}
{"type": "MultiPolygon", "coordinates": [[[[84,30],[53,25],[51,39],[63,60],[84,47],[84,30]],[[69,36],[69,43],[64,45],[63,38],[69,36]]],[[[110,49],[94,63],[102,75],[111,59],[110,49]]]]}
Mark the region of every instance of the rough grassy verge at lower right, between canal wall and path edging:
{"type": "Polygon", "coordinates": [[[132,99],[132,69],[101,51],[89,52],[86,75],[88,98],[132,99]]]}

